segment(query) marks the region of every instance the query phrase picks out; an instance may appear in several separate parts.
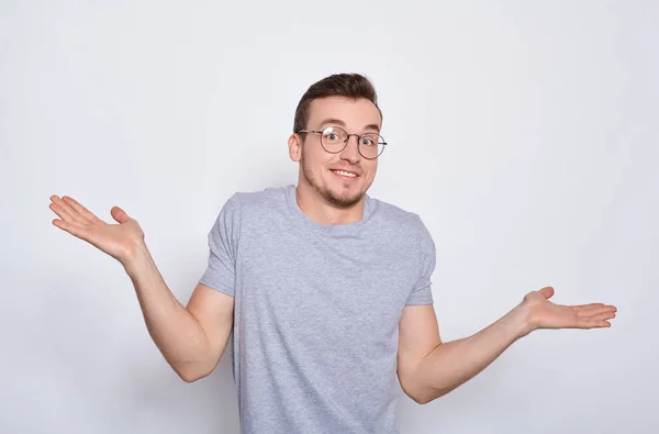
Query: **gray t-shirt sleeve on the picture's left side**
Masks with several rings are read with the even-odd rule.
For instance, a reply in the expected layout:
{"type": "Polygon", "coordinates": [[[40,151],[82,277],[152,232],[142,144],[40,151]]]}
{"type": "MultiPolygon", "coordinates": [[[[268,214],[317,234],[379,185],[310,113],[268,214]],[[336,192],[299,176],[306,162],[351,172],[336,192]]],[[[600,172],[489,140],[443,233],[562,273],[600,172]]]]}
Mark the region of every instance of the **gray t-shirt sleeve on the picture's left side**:
{"type": "Polygon", "coordinates": [[[206,287],[235,297],[236,256],[241,233],[237,194],[226,201],[208,235],[209,264],[199,279],[206,287]]]}

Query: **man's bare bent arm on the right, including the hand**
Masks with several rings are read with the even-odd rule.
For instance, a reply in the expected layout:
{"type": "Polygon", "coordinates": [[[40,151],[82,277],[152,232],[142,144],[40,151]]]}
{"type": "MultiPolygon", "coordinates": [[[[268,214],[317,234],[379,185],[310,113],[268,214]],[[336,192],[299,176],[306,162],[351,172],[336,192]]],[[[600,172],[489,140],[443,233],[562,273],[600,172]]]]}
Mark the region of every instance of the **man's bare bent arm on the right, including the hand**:
{"type": "Polygon", "coordinates": [[[477,334],[442,343],[432,305],[406,307],[399,325],[398,375],[403,391],[418,403],[439,398],[473,378],[510,345],[536,329],[607,327],[615,307],[558,305],[550,287],[529,292],[522,303],[477,334]]]}

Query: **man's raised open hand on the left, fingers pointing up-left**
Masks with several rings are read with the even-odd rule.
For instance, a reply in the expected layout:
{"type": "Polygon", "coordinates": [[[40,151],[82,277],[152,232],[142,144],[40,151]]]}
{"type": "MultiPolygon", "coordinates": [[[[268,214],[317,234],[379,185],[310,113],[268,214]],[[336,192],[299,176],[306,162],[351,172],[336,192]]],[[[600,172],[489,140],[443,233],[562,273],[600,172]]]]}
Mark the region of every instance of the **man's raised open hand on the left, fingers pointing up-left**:
{"type": "Polygon", "coordinates": [[[110,210],[119,224],[109,224],[70,197],[52,196],[51,201],[51,210],[59,216],[53,220],[55,226],[85,240],[121,263],[129,260],[144,242],[144,232],[137,221],[119,207],[110,210]]]}

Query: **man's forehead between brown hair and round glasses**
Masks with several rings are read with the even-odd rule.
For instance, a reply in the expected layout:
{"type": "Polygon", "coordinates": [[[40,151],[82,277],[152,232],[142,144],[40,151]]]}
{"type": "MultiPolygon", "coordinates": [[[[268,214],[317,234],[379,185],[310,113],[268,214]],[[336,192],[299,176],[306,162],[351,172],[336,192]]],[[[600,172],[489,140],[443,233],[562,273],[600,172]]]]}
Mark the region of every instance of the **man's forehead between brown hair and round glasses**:
{"type": "Polygon", "coordinates": [[[326,97],[313,100],[309,105],[309,126],[319,127],[327,119],[343,121],[353,130],[381,125],[378,108],[365,98],[326,97]]]}

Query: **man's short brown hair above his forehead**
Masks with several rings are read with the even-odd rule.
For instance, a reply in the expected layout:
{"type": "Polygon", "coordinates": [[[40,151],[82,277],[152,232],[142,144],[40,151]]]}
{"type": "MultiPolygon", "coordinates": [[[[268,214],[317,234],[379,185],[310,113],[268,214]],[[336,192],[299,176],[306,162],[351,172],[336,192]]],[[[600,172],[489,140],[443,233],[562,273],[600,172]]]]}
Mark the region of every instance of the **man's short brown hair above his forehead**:
{"type": "Polygon", "coordinates": [[[334,74],[314,82],[306,92],[304,92],[295,109],[295,119],[293,121],[294,133],[306,127],[311,102],[315,99],[326,97],[367,99],[378,108],[380,119],[382,119],[382,111],[378,107],[376,88],[368,78],[359,74],[334,74]]]}

